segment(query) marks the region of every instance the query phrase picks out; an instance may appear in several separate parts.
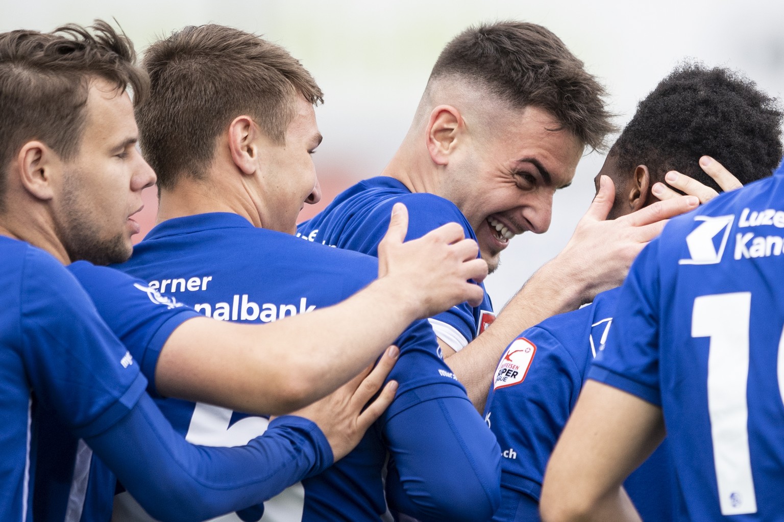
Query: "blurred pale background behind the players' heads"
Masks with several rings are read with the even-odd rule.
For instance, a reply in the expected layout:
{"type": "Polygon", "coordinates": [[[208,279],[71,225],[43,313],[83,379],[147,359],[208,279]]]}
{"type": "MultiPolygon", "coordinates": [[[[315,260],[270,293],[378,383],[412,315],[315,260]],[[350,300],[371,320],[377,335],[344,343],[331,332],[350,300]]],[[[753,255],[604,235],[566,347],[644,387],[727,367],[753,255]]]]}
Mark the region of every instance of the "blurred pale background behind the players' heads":
{"type": "MultiPolygon", "coordinates": [[[[140,52],[186,25],[223,23],[263,34],[310,70],[325,92],[316,117],[325,139],[314,157],[323,199],[310,217],[354,182],[378,175],[408,130],[441,48],[465,27],[492,20],[540,23],[554,31],[610,92],[624,124],[662,77],[684,58],[742,70],[765,91],[784,92],[784,2],[470,2],[468,0],[28,0],[0,2],[0,31],[51,31],[67,22],[116,19],[140,52]]],[[[553,223],[517,237],[487,279],[495,310],[567,243],[593,197],[604,156],[587,153],[575,182],[557,193],[553,223]]],[[[155,194],[147,194],[146,232],[155,194]]]]}

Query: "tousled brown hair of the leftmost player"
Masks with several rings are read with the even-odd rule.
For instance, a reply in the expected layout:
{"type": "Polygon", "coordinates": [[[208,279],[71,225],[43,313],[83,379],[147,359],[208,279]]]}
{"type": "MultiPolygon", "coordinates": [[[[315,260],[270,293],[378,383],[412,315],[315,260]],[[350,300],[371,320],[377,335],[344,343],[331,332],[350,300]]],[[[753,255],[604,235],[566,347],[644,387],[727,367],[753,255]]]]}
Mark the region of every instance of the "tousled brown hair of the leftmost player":
{"type": "Polygon", "coordinates": [[[38,139],[64,160],[78,153],[90,80],[130,85],[135,103],[147,95],[131,41],[101,20],[91,28],[0,34],[0,211],[5,171],[24,143],[38,139]]]}

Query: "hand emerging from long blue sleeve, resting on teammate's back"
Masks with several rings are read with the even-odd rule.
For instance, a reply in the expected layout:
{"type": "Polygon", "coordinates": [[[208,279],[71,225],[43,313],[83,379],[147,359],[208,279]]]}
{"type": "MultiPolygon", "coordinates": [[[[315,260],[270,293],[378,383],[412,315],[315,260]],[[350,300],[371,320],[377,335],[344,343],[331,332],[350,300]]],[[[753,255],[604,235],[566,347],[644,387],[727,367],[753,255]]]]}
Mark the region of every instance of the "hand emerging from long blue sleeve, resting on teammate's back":
{"type": "Polygon", "coordinates": [[[379,358],[375,368],[365,369],[332,394],[291,413],[318,425],[332,448],[335,461],[342,459],[359,444],[365,431],[392,403],[397,391],[397,382],[394,380],[387,383],[378,397],[368,401],[381,388],[399,354],[396,346],[390,346],[379,358]]]}

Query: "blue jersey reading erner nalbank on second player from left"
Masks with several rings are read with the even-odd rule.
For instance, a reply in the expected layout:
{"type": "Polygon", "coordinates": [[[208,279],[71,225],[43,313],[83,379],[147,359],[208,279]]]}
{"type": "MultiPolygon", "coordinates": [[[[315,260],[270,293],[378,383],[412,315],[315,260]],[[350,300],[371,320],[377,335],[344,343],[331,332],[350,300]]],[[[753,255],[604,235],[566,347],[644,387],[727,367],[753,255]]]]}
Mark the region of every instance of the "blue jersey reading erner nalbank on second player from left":
{"type": "MultiPolygon", "coordinates": [[[[271,322],[343,301],[376,278],[378,264],[364,254],[256,229],[237,214],[216,213],[163,222],[119,268],[213,319],[271,322]]],[[[430,506],[454,506],[467,513],[463,517],[489,511],[489,517],[499,499],[495,437],[437,356],[427,322],[415,322],[396,344],[401,357],[389,376],[399,383],[393,405],[353,452],[265,502],[262,520],[378,520],[387,509],[387,460],[406,494],[393,495],[396,507],[405,504],[422,520],[434,517],[430,506]],[[432,475],[462,481],[463,491],[442,491],[432,475]]],[[[171,398],[157,402],[176,429],[199,444],[244,444],[267,427],[258,416],[171,398]]]]}

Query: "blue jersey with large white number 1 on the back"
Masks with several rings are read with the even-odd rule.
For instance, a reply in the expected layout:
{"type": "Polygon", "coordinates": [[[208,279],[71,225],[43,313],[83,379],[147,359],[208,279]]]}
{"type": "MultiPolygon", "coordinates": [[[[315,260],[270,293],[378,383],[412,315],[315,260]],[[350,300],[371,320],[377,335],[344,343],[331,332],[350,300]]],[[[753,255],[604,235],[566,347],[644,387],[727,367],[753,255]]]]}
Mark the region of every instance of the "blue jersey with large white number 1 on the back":
{"type": "Polygon", "coordinates": [[[660,405],[688,520],[784,513],[784,176],[673,219],[589,377],[660,405]]]}

